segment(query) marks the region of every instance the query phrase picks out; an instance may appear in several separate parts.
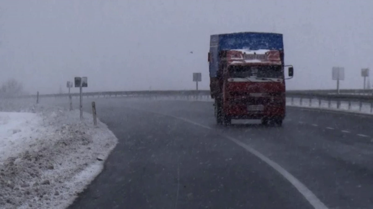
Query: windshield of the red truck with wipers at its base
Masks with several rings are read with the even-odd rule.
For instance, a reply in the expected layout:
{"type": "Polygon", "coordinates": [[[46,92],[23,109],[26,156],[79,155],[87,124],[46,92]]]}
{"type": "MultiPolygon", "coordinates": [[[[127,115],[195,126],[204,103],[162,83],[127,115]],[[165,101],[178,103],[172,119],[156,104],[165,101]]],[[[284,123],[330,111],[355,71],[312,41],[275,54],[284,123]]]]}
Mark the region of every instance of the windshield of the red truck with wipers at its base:
{"type": "Polygon", "coordinates": [[[283,78],[284,74],[280,65],[266,66],[229,66],[229,78],[283,78]]]}

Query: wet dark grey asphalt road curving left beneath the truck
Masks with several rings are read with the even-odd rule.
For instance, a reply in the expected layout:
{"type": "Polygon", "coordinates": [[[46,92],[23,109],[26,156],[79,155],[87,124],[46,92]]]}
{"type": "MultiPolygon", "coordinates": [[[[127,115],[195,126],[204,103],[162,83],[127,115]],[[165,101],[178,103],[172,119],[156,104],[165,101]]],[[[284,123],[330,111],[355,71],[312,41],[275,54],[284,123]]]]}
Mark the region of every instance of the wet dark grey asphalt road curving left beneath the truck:
{"type": "Polygon", "coordinates": [[[71,209],[313,208],[229,137],[278,163],[330,209],[373,208],[373,117],[288,107],[283,127],[221,127],[211,102],[95,101],[119,143],[71,209]]]}

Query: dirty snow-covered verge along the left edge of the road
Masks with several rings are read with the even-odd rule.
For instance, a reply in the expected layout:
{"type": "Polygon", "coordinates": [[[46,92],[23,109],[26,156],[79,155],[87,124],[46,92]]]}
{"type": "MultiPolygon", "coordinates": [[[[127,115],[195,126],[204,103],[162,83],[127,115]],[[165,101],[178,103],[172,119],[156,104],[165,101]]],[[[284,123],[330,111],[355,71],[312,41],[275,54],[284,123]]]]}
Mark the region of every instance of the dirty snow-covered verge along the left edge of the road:
{"type": "Polygon", "coordinates": [[[66,208],[117,143],[89,113],[35,108],[0,112],[0,208],[66,208]]]}

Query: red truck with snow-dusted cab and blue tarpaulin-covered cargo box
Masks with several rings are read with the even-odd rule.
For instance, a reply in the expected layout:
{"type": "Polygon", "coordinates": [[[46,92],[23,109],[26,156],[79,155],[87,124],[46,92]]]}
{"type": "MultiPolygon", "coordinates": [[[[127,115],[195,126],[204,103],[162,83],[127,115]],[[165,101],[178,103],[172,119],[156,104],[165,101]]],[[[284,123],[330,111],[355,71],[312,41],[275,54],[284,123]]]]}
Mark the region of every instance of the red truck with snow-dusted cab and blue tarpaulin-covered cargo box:
{"type": "MultiPolygon", "coordinates": [[[[281,125],[285,118],[282,34],[239,32],[211,35],[210,91],[218,124],[261,119],[281,125]]],[[[292,66],[289,77],[293,76],[292,66]]]]}

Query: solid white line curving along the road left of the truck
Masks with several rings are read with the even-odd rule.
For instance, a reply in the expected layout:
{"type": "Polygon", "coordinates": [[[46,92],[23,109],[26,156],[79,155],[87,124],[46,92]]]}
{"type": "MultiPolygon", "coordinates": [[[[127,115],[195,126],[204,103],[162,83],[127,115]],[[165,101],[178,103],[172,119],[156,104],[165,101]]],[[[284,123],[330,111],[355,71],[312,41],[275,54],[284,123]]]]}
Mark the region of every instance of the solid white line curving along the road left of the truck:
{"type": "MultiPolygon", "coordinates": [[[[133,108],[132,108],[133,109],[133,108]]],[[[141,109],[138,109],[138,110],[141,110],[141,109]]],[[[208,127],[206,125],[202,125],[202,124],[199,124],[197,122],[194,122],[194,121],[191,121],[189,119],[186,119],[186,118],[181,118],[181,117],[178,117],[178,116],[173,116],[173,115],[167,115],[167,114],[164,114],[164,113],[158,113],[158,112],[153,112],[153,111],[150,111],[150,110],[142,110],[142,111],[147,111],[147,112],[152,112],[152,113],[156,113],[156,114],[159,114],[159,115],[164,115],[164,116],[168,116],[168,117],[172,117],[172,118],[176,118],[176,119],[179,119],[179,120],[182,120],[182,121],[185,121],[185,122],[188,122],[188,123],[191,123],[191,124],[194,124],[194,125],[197,125],[199,127],[203,127],[203,128],[207,128],[207,129],[213,129],[211,127],[208,127]]],[[[220,134],[221,135],[221,134],[220,134]]],[[[288,171],[285,170],[285,168],[282,168],[279,164],[277,164],[276,162],[272,161],[271,159],[269,159],[268,157],[264,156],[263,154],[261,154],[260,152],[258,152],[257,150],[255,150],[254,148],[248,146],[247,144],[244,144],[243,142],[233,138],[233,137],[230,137],[230,136],[227,136],[227,135],[222,135],[226,138],[228,138],[229,140],[233,141],[234,143],[236,143],[237,145],[241,146],[242,148],[244,148],[245,150],[247,150],[248,152],[250,152],[251,154],[257,156],[259,159],[263,160],[264,162],[266,162],[269,166],[271,166],[273,169],[275,169],[277,172],[279,172],[280,175],[282,175],[286,180],[288,180],[295,188],[297,188],[297,190],[304,196],[304,198],[313,206],[313,208],[315,209],[328,209],[326,207],[326,205],[324,203],[321,202],[321,200],[319,200],[316,195],[310,190],[308,189],[303,183],[301,183],[297,178],[295,178],[293,175],[291,175],[288,171]]]]}

